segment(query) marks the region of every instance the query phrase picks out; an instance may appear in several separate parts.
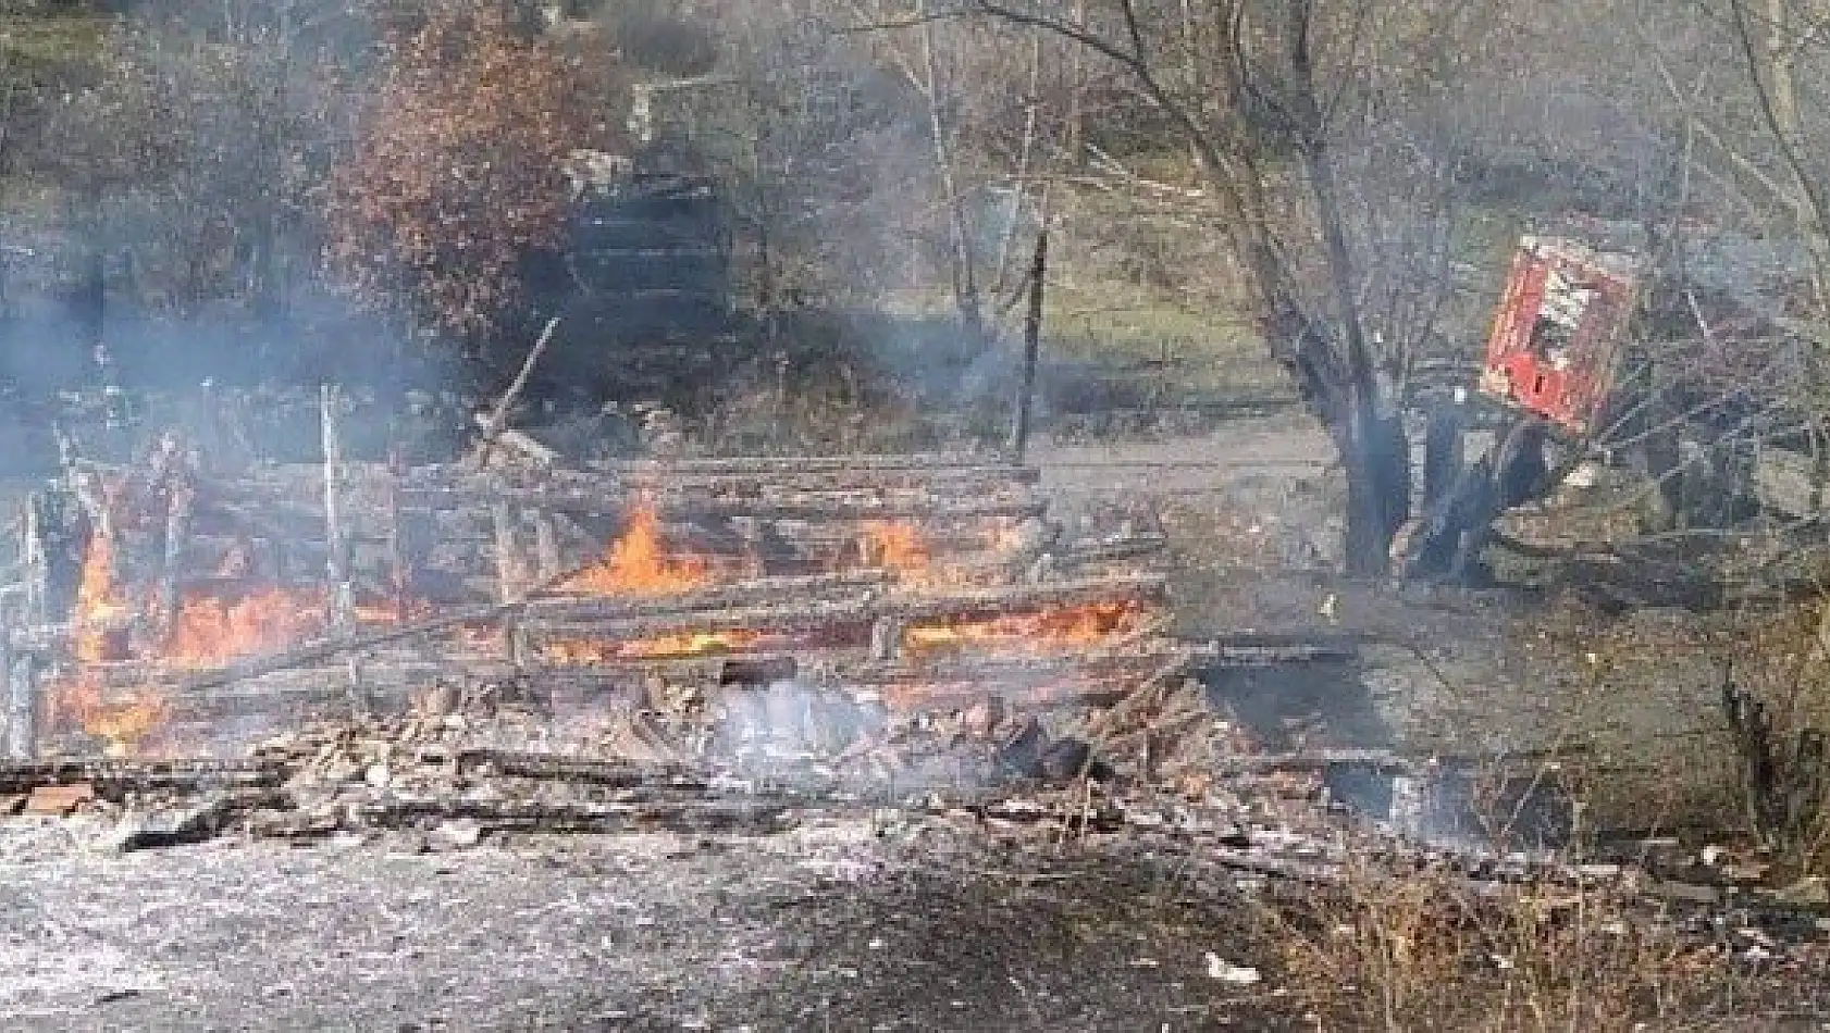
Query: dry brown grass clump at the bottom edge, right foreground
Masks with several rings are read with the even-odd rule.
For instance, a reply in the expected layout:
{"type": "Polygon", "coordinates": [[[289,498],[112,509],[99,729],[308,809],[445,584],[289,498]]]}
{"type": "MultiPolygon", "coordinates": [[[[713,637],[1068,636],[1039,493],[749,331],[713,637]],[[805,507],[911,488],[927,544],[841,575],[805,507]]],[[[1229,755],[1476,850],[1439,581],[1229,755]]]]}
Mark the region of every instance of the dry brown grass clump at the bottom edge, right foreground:
{"type": "Polygon", "coordinates": [[[1709,1028],[1749,998],[1618,890],[1362,868],[1276,921],[1286,985],[1325,1029],[1709,1028]]]}

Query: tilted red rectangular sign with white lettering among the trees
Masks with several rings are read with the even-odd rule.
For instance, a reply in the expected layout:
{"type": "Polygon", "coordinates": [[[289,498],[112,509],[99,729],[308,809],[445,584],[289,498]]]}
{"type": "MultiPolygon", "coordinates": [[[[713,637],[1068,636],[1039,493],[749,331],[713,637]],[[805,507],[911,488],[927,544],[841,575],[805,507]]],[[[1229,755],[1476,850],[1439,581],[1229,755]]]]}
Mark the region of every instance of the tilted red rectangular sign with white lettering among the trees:
{"type": "Polygon", "coordinates": [[[1585,435],[1614,384],[1621,331],[1632,318],[1631,256],[1524,238],[1493,316],[1480,391],[1585,435]]]}

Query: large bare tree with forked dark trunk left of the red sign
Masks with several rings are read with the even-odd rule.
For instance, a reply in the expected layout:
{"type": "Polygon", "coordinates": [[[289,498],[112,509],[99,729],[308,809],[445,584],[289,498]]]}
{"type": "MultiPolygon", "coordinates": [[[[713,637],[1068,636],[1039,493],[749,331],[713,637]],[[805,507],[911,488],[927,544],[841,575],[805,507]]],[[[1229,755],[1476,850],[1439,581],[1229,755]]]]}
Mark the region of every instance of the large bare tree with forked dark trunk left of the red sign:
{"type": "Polygon", "coordinates": [[[1466,4],[1442,7],[966,0],[961,11],[1052,33],[1114,64],[1199,159],[1265,340],[1338,446],[1356,574],[1387,569],[1409,516],[1400,413],[1409,340],[1380,325],[1393,309],[1367,309],[1365,272],[1402,256],[1356,247],[1341,130],[1382,117],[1391,69],[1435,46],[1431,26],[1462,24],[1466,4]]]}

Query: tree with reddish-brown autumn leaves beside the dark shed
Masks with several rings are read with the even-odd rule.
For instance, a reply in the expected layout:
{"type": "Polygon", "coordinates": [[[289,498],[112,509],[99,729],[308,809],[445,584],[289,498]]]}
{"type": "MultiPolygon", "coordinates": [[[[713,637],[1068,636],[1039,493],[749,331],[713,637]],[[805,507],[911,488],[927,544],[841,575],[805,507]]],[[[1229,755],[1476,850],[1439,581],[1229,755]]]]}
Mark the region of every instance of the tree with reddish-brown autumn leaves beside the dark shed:
{"type": "Polygon", "coordinates": [[[479,340],[564,236],[575,148],[608,146],[613,82],[490,0],[448,0],[384,49],[373,102],[328,190],[328,254],[366,307],[479,340]]]}

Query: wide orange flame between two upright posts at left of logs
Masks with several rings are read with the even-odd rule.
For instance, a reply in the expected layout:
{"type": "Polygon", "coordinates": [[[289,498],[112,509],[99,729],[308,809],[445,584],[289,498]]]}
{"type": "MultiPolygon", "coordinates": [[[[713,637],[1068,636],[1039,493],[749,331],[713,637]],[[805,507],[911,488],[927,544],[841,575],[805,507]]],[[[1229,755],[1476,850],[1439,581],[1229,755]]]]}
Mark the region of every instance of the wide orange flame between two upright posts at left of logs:
{"type": "Polygon", "coordinates": [[[324,594],[260,589],[236,602],[188,596],[157,658],[167,667],[220,667],[242,656],[274,653],[324,631],[324,594]]]}

